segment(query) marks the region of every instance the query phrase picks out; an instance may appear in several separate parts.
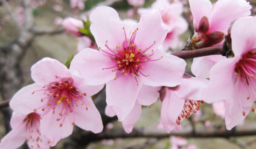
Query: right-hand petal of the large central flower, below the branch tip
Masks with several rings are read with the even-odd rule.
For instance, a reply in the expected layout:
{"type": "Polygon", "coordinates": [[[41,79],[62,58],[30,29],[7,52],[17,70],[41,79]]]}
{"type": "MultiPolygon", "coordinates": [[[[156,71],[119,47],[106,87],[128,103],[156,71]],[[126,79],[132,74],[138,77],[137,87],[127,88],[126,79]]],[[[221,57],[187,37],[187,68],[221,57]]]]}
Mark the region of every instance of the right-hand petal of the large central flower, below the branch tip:
{"type": "Polygon", "coordinates": [[[151,60],[141,64],[145,69],[141,72],[148,77],[145,77],[145,85],[148,86],[177,86],[182,82],[182,76],[185,71],[185,60],[166,54],[160,50],[154,50],[151,60]],[[161,58],[163,56],[163,58],[161,58]],[[157,60],[161,58],[160,60],[157,60]]]}

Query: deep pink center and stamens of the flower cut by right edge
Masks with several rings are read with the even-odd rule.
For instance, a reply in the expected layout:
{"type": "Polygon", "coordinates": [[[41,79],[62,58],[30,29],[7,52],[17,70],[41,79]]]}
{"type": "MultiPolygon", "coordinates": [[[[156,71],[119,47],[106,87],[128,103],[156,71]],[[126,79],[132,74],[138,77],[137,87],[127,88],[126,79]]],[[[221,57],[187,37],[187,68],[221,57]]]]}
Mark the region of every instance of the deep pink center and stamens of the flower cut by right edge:
{"type": "MultiPolygon", "coordinates": [[[[239,88],[240,108],[242,114],[245,116],[245,112],[241,107],[240,91],[247,97],[247,100],[250,99],[251,96],[253,96],[253,100],[255,103],[256,98],[253,92],[256,91],[256,79],[254,77],[256,75],[256,54],[251,52],[244,54],[241,60],[236,63],[235,72],[238,74],[236,83],[238,83],[239,88]]],[[[253,107],[251,107],[251,109],[252,111],[254,111],[253,107]]]]}

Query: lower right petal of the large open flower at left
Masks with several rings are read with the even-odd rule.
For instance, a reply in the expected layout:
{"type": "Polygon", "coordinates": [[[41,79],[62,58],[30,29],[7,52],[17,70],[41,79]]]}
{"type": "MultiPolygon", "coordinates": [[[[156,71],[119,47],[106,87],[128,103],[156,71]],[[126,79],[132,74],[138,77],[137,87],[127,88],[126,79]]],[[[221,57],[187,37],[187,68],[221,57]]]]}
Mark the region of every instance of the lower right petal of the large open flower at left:
{"type": "Polygon", "coordinates": [[[84,97],[84,105],[81,101],[77,102],[79,106],[74,108],[74,119],[76,126],[81,129],[92,131],[93,133],[102,132],[103,124],[98,109],[90,96],[84,97]],[[88,109],[86,109],[88,108],[88,109]]]}

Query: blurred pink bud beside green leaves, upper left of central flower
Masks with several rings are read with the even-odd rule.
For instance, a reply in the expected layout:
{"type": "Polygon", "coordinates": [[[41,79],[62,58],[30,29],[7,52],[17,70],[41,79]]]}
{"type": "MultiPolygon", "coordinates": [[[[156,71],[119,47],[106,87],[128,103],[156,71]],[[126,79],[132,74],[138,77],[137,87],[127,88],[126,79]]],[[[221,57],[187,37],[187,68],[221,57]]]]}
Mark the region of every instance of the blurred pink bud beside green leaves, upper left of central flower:
{"type": "Polygon", "coordinates": [[[75,35],[75,36],[81,36],[81,33],[79,32],[78,28],[83,29],[84,24],[82,20],[75,19],[73,17],[67,17],[63,20],[62,25],[66,29],[67,32],[75,35]]]}

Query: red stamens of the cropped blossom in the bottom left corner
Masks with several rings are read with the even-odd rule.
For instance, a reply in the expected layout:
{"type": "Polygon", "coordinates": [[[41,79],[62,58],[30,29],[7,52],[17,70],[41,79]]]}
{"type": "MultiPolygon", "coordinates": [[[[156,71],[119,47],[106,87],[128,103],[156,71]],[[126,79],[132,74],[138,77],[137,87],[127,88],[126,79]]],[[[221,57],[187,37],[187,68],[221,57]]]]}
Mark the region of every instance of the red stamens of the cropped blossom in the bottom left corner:
{"type": "MultiPolygon", "coordinates": [[[[23,121],[26,123],[27,141],[32,141],[32,144],[40,148],[40,143],[43,141],[42,138],[40,138],[40,115],[35,112],[30,113],[23,121]]],[[[50,142],[48,141],[48,143],[50,142]]],[[[33,148],[34,146],[31,145],[30,147],[33,148]]]]}

